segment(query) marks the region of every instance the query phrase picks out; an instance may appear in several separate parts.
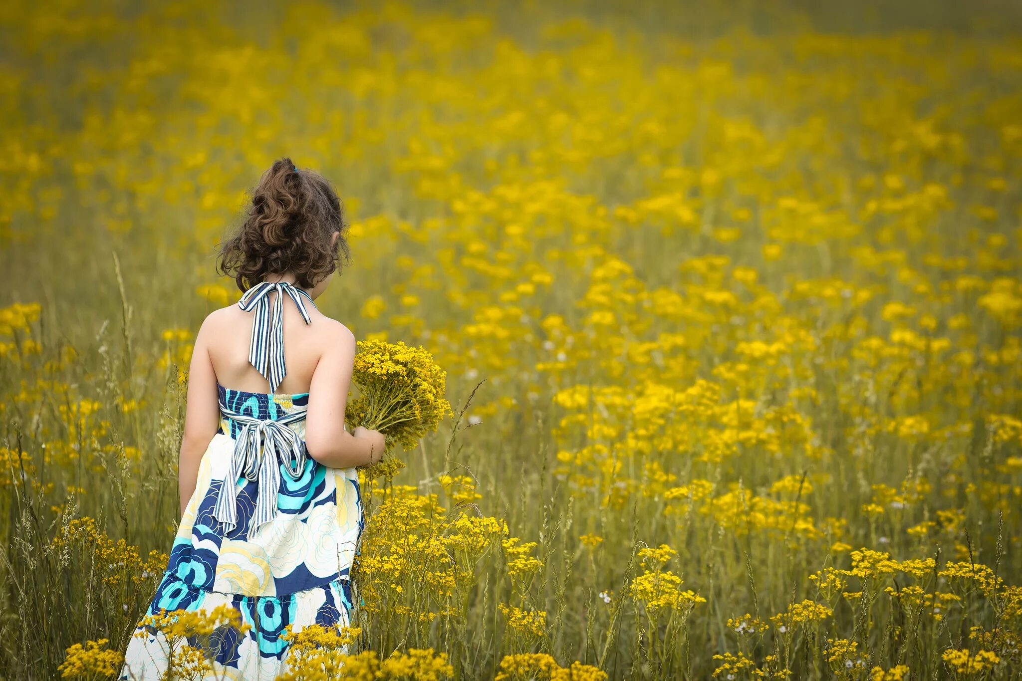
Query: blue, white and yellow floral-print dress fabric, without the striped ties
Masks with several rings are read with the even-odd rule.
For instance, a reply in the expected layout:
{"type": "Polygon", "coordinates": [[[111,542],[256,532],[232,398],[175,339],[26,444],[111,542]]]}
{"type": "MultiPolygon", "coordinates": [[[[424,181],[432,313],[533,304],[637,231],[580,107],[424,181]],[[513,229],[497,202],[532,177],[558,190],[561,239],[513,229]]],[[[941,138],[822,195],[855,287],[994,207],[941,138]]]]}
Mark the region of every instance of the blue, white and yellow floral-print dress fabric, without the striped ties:
{"type": "MultiPolygon", "coordinates": [[[[223,386],[219,391],[223,404],[257,419],[278,420],[309,402],[308,393],[275,395],[223,386]]],[[[304,421],[289,427],[305,434],[304,421]]],[[[281,475],[279,514],[248,538],[258,485],[244,478],[225,480],[239,431],[236,422],[221,419],[148,612],[230,603],[250,629],[240,636],[225,630],[217,638],[216,678],[274,678],[287,650],[281,639],[287,626],[349,622],[349,574],[364,526],[362,498],[355,469],[331,469],[310,457],[297,480],[281,475]],[[213,515],[224,484],[239,485],[238,523],[230,532],[213,515]]],[[[167,651],[161,632],[140,626],[121,678],[157,678],[167,669],[167,651]]]]}

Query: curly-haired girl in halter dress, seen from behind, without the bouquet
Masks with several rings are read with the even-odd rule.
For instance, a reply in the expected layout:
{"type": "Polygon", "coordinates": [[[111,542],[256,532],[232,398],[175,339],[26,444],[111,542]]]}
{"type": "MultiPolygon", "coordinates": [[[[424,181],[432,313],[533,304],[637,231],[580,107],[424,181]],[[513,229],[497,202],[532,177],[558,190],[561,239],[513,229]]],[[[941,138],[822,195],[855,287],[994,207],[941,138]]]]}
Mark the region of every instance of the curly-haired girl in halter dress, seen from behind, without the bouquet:
{"type": "MultiPolygon", "coordinates": [[[[379,460],[384,439],[344,429],[355,337],[313,302],[347,255],[344,228],[326,180],[275,162],[220,252],[241,299],[211,313],[195,338],[181,524],[148,614],[236,610],[250,629],[213,636],[218,679],[273,679],[285,627],[349,622],[363,528],[356,467],[379,460]]],[[[172,644],[140,623],[122,679],[159,678],[172,644]]]]}

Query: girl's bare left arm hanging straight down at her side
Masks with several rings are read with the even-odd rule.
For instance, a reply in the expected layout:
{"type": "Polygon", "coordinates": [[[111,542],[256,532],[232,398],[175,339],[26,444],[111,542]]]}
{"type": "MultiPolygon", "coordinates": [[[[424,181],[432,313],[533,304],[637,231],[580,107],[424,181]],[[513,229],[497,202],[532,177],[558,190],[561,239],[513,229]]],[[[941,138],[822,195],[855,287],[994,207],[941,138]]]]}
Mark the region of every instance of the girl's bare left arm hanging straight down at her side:
{"type": "Polygon", "coordinates": [[[191,366],[188,370],[188,397],[185,408],[185,432],[178,457],[178,490],[181,513],[195,492],[198,467],[210,441],[220,427],[220,405],[217,402],[217,375],[210,360],[207,336],[210,319],[202,323],[195,337],[191,366]]]}

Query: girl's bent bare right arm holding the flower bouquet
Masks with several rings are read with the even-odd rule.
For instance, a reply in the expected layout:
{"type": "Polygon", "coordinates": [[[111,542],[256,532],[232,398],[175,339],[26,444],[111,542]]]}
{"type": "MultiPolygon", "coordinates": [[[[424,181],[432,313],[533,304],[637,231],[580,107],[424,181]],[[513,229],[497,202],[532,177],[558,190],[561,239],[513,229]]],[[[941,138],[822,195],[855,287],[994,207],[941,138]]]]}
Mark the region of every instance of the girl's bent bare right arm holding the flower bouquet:
{"type": "Polygon", "coordinates": [[[355,336],[336,324],[309,387],[306,448],[310,456],[334,469],[367,466],[383,456],[382,434],[365,428],[357,428],[354,433],[344,430],[355,351],[355,336]]]}

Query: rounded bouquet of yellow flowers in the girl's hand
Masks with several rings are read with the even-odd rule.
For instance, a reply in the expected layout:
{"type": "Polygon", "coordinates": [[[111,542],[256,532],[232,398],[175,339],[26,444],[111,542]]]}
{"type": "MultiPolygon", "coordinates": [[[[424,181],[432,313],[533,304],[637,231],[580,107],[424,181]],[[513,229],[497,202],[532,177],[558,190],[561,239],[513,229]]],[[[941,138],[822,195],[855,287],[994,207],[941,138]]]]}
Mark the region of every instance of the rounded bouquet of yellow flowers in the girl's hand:
{"type": "Polygon", "coordinates": [[[421,347],[378,340],[359,341],[358,346],[352,381],[361,394],[349,402],[349,427],[380,431],[388,448],[416,446],[451,412],[444,397],[447,372],[421,347]]]}

